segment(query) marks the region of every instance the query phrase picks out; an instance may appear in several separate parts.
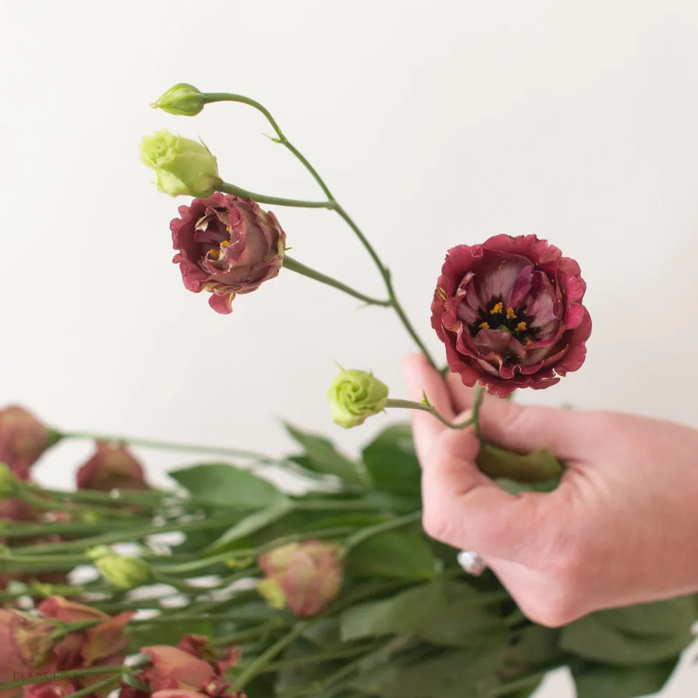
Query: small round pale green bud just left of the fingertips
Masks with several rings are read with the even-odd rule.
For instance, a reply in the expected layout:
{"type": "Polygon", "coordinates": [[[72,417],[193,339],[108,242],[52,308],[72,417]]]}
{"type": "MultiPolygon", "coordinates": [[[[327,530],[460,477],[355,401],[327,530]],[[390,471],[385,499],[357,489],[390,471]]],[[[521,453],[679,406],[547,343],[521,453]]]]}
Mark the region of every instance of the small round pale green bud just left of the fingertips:
{"type": "MultiPolygon", "coordinates": [[[[340,366],[341,368],[341,366],[340,366]]],[[[388,387],[368,371],[345,371],[332,381],[327,392],[332,421],[345,429],[359,426],[366,417],[385,408],[388,387]]]]}

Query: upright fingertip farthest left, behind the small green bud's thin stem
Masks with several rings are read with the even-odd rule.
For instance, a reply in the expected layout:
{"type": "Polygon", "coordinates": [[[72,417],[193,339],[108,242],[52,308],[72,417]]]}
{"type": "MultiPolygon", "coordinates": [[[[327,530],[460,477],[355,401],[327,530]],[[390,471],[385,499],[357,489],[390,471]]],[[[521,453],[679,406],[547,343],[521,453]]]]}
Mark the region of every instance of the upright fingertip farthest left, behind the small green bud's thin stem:
{"type": "MultiPolygon", "coordinates": [[[[402,363],[402,372],[410,400],[422,402],[426,394],[436,411],[446,419],[454,419],[449,391],[443,378],[421,354],[406,357],[402,363]]],[[[415,447],[420,461],[431,450],[434,440],[446,427],[427,412],[410,410],[415,447]]]]}

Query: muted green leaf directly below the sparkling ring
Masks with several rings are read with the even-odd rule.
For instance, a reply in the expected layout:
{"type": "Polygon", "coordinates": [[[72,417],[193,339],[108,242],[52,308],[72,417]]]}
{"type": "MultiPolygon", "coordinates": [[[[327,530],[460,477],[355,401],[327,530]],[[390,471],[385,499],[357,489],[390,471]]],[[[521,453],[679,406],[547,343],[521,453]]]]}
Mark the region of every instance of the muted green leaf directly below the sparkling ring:
{"type": "Polygon", "coordinates": [[[442,588],[443,603],[417,630],[416,637],[431,644],[464,647],[489,643],[493,636],[507,644],[510,630],[498,614],[496,604],[483,605],[482,594],[462,582],[447,582],[442,588]]]}

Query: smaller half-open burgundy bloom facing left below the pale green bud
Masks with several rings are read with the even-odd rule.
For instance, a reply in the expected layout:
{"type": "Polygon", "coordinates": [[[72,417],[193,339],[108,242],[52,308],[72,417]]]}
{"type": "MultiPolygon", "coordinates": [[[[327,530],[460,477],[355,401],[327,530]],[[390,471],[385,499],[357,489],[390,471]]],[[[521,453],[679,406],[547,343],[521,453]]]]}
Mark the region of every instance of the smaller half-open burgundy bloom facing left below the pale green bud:
{"type": "Polygon", "coordinates": [[[235,295],[279,274],[286,235],[257,202],[217,192],[180,206],[179,216],[170,223],[179,251],[172,261],[188,290],[211,292],[209,305],[217,313],[230,313],[235,295]]]}

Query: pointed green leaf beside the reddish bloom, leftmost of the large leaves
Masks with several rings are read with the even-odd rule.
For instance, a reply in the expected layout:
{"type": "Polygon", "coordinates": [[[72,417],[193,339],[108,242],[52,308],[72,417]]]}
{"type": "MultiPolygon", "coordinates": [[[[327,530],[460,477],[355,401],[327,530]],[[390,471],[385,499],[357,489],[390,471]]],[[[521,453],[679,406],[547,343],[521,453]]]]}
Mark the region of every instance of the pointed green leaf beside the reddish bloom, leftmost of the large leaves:
{"type": "Polygon", "coordinates": [[[225,463],[174,470],[170,477],[193,496],[229,509],[261,509],[284,498],[271,482],[225,463]]]}

